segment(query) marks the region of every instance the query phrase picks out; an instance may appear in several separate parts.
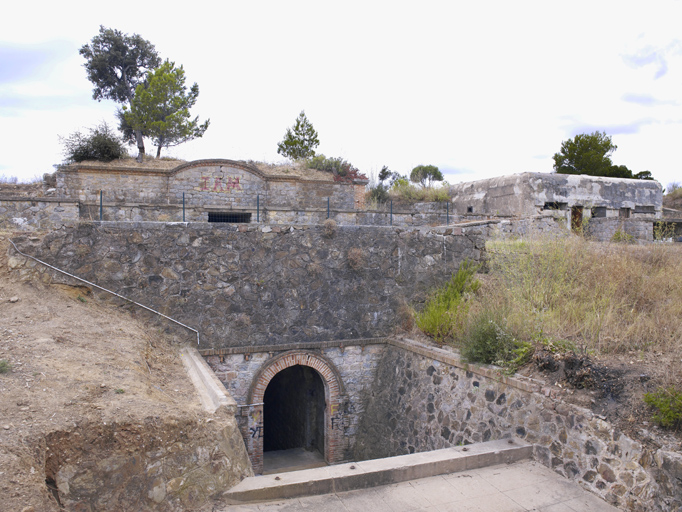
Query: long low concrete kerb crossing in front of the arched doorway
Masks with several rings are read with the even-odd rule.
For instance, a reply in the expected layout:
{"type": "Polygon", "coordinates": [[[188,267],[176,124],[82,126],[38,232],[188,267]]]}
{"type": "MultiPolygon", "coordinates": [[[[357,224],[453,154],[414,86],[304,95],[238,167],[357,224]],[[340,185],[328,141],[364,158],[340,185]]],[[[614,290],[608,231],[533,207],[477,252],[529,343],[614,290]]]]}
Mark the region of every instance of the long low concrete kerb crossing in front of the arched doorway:
{"type": "Polygon", "coordinates": [[[365,489],[517,462],[531,458],[532,453],[533,445],[514,438],[303,471],[254,476],[245,478],[225,492],[223,500],[226,504],[237,505],[365,489]]]}

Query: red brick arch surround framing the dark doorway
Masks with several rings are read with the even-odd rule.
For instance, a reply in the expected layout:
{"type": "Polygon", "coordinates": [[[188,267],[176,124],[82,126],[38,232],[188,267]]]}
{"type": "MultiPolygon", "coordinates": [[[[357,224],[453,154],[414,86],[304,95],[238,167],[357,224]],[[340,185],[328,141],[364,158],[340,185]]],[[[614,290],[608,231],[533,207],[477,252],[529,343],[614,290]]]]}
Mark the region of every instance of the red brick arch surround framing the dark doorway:
{"type": "Polygon", "coordinates": [[[265,390],[275,375],[291,366],[309,366],[322,379],[325,393],[324,410],[324,458],[329,464],[341,462],[343,453],[341,442],[343,436],[343,403],[344,386],[334,364],[321,354],[305,350],[292,350],[279,354],[266,361],[256,373],[249,388],[248,403],[252,404],[246,431],[242,432],[246,448],[251,458],[253,471],[263,472],[263,433],[267,426],[263,424],[263,400],[265,390]]]}

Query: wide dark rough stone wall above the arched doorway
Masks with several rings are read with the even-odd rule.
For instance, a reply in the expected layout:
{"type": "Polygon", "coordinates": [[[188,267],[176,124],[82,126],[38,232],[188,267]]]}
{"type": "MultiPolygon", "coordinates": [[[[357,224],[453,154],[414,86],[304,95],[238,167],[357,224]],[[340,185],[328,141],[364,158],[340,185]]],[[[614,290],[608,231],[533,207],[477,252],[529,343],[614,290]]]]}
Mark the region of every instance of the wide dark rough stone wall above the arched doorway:
{"type": "Polygon", "coordinates": [[[479,261],[457,228],[80,223],[21,250],[201,333],[199,348],[372,338],[479,261]]]}

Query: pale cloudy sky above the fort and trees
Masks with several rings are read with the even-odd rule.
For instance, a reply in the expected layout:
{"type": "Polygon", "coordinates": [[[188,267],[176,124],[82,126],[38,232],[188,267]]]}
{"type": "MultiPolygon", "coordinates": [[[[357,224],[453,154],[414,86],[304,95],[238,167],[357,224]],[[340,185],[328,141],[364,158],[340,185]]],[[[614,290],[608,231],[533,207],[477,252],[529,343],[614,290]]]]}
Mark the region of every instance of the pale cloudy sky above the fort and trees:
{"type": "Polygon", "coordinates": [[[604,131],[614,164],[682,182],[682,0],[114,7],[23,2],[2,16],[0,175],[42,176],[64,159],[60,136],[117,125],[78,54],[103,25],[140,34],[199,84],[192,114],[209,129],[162,156],[284,162],[277,143],[305,110],[318,154],[368,175],[552,172],[562,141],[604,131]]]}

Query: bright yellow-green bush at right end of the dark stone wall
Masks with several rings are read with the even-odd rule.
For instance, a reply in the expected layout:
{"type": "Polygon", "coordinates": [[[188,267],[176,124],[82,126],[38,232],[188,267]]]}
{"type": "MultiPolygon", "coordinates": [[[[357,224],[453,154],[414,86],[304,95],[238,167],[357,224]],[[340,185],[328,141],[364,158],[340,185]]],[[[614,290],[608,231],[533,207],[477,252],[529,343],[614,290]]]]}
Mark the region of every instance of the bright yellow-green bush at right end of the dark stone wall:
{"type": "Polygon", "coordinates": [[[431,336],[438,343],[453,339],[455,333],[462,328],[469,309],[467,294],[474,293],[480,287],[475,275],[480,265],[464,261],[450,281],[432,295],[417,313],[416,322],[424,334],[431,336]]]}

